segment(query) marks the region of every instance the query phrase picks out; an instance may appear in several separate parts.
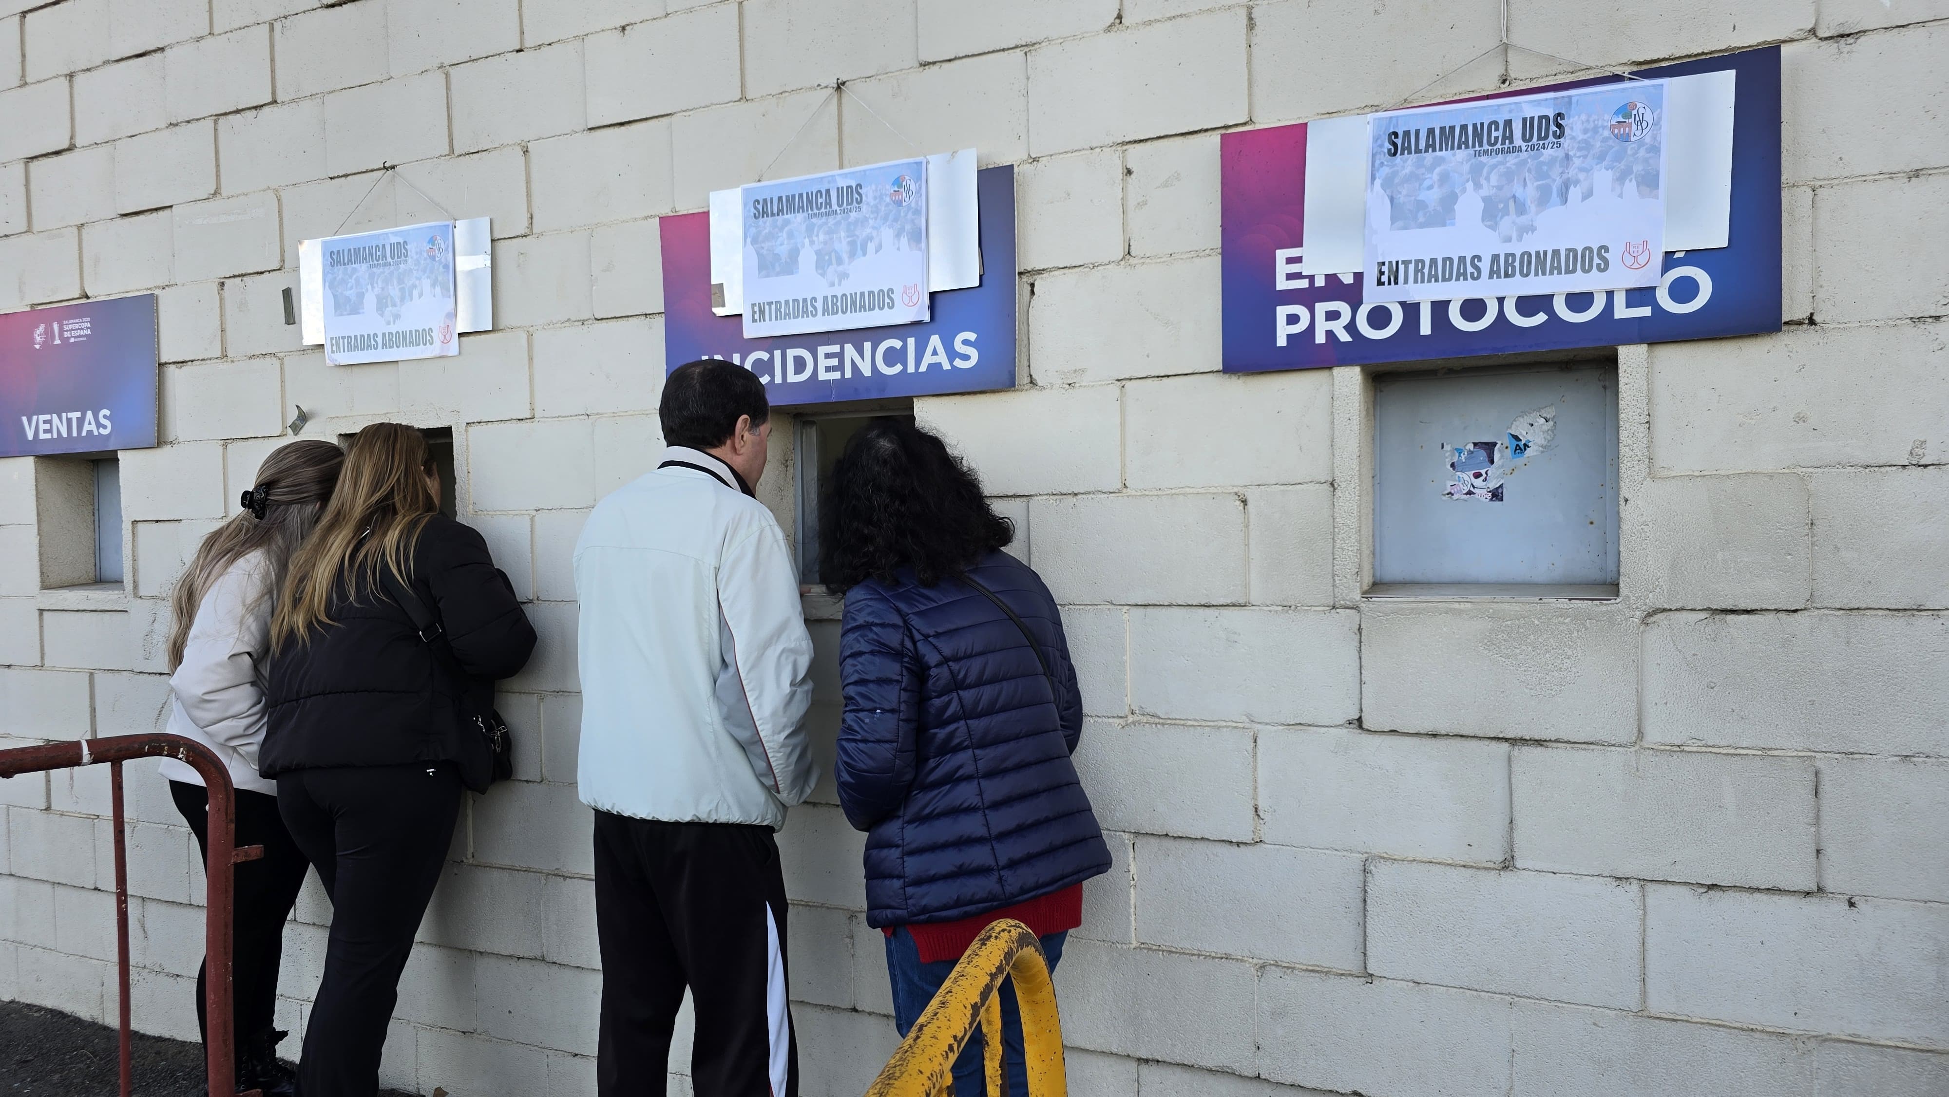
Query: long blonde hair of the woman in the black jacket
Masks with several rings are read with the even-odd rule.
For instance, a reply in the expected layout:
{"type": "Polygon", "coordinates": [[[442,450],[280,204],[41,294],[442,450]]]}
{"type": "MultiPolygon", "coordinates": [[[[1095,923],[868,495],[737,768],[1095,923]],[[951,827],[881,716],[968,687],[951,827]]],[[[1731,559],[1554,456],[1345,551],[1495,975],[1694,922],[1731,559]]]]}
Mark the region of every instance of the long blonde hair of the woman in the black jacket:
{"type": "Polygon", "coordinates": [[[440,505],[433,493],[427,438],[403,423],[374,423],[353,436],[339,489],[298,548],[271,616],[271,651],[304,645],[327,616],[333,594],[361,600],[378,588],[386,567],[401,585],[413,581],[413,546],[440,505]]]}

